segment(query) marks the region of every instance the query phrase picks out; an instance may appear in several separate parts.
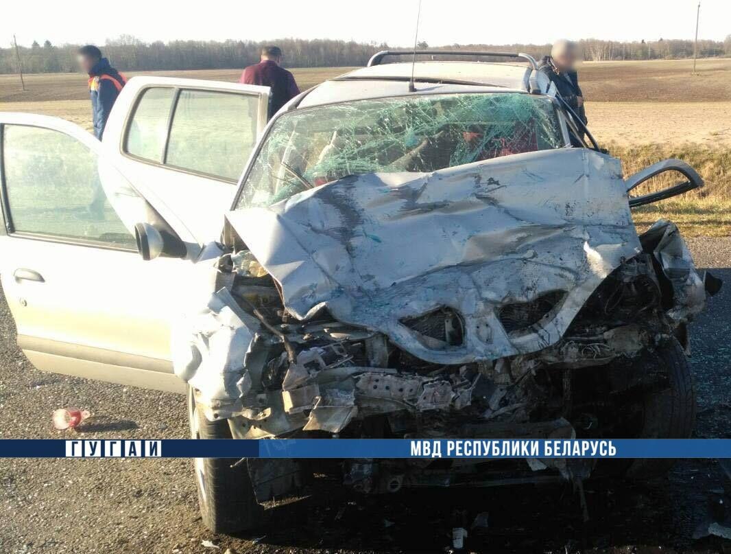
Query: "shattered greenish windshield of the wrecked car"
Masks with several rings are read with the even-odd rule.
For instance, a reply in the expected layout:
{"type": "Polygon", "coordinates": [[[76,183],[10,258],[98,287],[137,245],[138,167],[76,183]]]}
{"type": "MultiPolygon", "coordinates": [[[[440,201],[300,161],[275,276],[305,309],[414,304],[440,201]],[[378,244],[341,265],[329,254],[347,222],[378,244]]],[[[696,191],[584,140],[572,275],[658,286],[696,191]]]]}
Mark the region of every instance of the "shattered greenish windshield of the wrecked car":
{"type": "Polygon", "coordinates": [[[349,175],[429,172],[564,146],[553,104],[519,93],[359,100],[281,116],[238,208],[269,206],[349,175]]]}

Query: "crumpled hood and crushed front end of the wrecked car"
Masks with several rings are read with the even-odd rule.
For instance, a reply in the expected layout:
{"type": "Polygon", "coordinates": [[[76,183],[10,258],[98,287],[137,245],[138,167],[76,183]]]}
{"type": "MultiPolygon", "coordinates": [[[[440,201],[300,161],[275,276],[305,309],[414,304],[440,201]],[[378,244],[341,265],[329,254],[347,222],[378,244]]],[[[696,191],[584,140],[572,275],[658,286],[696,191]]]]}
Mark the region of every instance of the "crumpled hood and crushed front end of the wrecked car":
{"type": "MultiPolygon", "coordinates": [[[[567,150],[527,181],[514,164],[357,176],[229,214],[218,291],[174,337],[175,373],[208,419],[234,438],[633,436],[637,399],[667,384],[654,351],[688,348],[720,282],[672,223],[637,236],[613,158],[567,150]],[[392,236],[416,228],[428,249],[400,259],[392,236]]],[[[249,460],[260,501],[293,474],[262,461],[249,460]]],[[[528,460],[478,476],[479,462],[354,460],[344,481],[393,492],[591,471],[528,460]]]]}

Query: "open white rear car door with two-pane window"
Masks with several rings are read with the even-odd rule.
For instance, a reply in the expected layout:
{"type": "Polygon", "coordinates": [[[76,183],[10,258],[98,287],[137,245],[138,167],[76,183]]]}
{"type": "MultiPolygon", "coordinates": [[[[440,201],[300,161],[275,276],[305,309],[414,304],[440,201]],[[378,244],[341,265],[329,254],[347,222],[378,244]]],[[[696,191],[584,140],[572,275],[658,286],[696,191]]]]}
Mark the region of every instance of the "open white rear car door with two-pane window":
{"type": "Polygon", "coordinates": [[[154,190],[206,244],[219,236],[268,104],[266,86],[134,77],[115,102],[102,145],[132,184],[154,190]]]}

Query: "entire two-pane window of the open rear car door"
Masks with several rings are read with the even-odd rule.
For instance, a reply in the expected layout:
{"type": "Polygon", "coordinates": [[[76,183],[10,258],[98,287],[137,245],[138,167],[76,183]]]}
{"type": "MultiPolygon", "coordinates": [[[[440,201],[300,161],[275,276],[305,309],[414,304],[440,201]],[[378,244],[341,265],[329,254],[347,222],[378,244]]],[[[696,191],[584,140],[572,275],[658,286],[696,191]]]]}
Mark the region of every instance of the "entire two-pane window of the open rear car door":
{"type": "Polygon", "coordinates": [[[125,151],[173,169],[237,181],[257,138],[259,103],[256,94],[146,89],[129,122],[125,151]]]}

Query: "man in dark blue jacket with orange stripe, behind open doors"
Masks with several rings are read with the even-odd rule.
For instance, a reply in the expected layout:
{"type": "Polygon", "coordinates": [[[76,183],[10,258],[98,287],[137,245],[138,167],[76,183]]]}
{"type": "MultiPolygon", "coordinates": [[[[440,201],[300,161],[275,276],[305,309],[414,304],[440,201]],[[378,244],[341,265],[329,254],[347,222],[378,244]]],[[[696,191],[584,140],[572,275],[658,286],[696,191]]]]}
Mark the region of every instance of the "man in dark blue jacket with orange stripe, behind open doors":
{"type": "Polygon", "coordinates": [[[89,76],[94,135],[101,141],[109,113],[126,83],[126,78],[110,66],[108,59],[102,58],[102,50],[94,45],[79,48],[78,55],[81,68],[89,76]]]}

